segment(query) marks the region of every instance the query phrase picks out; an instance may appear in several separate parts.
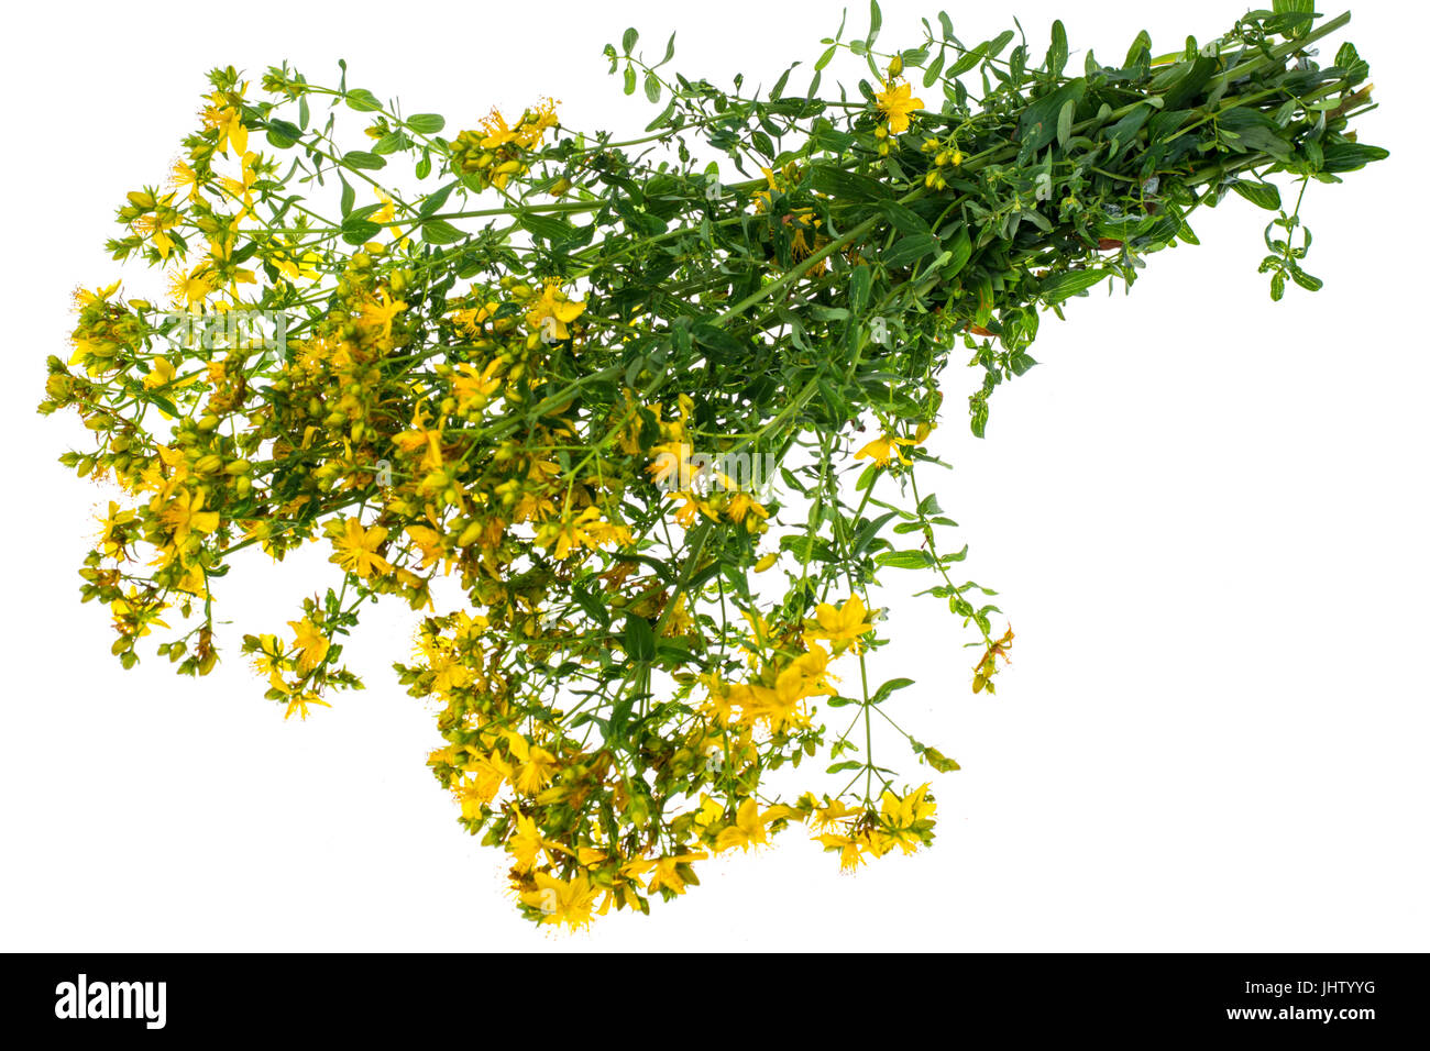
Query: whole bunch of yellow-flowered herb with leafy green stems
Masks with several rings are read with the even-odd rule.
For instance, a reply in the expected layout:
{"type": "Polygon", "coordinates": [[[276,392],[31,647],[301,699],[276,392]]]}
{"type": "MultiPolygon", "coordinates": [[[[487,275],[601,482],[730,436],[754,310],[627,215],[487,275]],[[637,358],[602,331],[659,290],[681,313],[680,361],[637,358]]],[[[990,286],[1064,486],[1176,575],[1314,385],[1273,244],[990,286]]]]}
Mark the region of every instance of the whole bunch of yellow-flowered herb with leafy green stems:
{"type": "MultiPolygon", "coordinates": [[[[1246,16],[1224,40],[1253,57],[1228,82],[1194,41],[1154,73],[1145,34],[1123,70],[1068,77],[1061,23],[1041,66],[998,57],[1011,31],[965,49],[947,17],[941,43],[928,23],[928,47],[877,53],[874,4],[808,94],[782,77],[768,99],[672,80],[674,39],[652,66],[631,29],[611,71],[669,102],[629,142],[548,136],[551,100],[449,140],[346,66],[336,86],[270,67],[253,93],[213,70],[180,159],[106,245],[167,272],[172,309],[80,292],[73,353],[49,360],[41,412],[93,436],[61,463],[119,492],[82,595],[126,668],[164,631],[157,653],[206,675],[242,552],[320,545],[335,585],[243,638],[285,718],[360,685],[343,661],[363,603],[408,603],[398,673],[436,719],[432,772],[542,924],[644,912],[795,824],[845,869],[928,845],[934,795],[889,752],[958,765],[891,714],[911,679],[871,679],[888,642],[871,589],[931,573],[919,593],[977,631],[975,694],[1014,641],[918,490],[938,378],[972,352],[981,436],[1045,309],[1131,283],[1228,186],[1274,209],[1264,173],[1338,182],[1383,159],[1347,123],[1371,106],[1366,63],[1306,50],[1343,20],[1303,16],[1246,16]],[[888,60],[862,102],[818,96],[841,50],[888,60]],[[937,114],[905,61],[940,84],[937,114]],[[958,80],[975,66],[977,100],[958,80]],[[762,177],[718,182],[706,147],[762,177]],[[792,802],[775,771],[808,778],[792,802]]],[[[1303,255],[1267,257],[1274,297],[1320,285],[1303,255]]]]}

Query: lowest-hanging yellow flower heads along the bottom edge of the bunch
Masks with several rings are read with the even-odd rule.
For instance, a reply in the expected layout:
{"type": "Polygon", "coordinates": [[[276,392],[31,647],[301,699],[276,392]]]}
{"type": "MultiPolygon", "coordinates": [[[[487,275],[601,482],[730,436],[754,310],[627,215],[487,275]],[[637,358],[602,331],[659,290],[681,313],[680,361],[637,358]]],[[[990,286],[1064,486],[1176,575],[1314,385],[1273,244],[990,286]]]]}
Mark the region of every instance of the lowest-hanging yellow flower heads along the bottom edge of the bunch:
{"type": "MultiPolygon", "coordinates": [[[[764,845],[792,822],[809,825],[847,869],[864,855],[932,842],[928,785],[902,796],[885,791],[877,809],[828,796],[821,804],[811,794],[792,805],[764,805],[755,795],[761,741],[807,728],[799,702],[834,694],[827,682],[831,653],[821,642],[835,653],[858,652],[872,631],[865,618],[858,598],[819,605],[802,641],[791,643],[798,632],[746,613],[755,678],[725,684],[702,676],[706,701],[682,736],[665,745],[669,751],[651,755],[652,784],[625,776],[608,746],[578,744],[573,712],[548,708],[533,718],[496,672],[503,643],[488,618],[428,619],[406,679],[412,692],[445,702],[439,725],[449,744],[429,764],[456,798],[463,824],[473,832],[485,828],[483,842],[511,857],[521,908],[539,922],[579,928],[612,907],[649,911],[652,897],[669,899],[699,882],[695,862],[764,845]],[[508,716],[518,712],[526,729],[511,725],[508,716]],[[719,795],[702,785],[719,786],[719,795]]],[[[651,739],[646,746],[656,745],[651,739]]]]}

